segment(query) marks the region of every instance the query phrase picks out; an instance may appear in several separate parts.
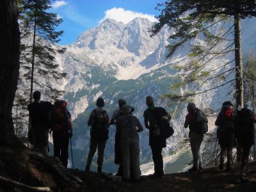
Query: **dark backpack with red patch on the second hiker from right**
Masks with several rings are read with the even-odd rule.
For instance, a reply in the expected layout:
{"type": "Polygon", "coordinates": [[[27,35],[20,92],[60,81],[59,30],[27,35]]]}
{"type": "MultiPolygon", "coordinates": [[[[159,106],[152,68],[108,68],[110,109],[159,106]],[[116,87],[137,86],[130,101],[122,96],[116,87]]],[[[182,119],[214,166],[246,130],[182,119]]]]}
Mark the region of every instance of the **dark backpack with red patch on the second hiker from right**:
{"type": "Polygon", "coordinates": [[[234,124],[234,111],[232,106],[223,106],[221,108],[221,124],[219,127],[220,132],[234,132],[235,124],[234,124]]]}

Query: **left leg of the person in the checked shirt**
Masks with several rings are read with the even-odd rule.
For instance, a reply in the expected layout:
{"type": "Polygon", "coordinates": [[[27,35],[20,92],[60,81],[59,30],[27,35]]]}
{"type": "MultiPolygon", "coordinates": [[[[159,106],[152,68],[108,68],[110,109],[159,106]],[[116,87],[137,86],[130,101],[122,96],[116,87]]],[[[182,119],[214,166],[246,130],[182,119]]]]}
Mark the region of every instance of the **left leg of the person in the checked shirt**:
{"type": "MultiPolygon", "coordinates": [[[[122,140],[122,157],[123,157],[123,178],[130,179],[130,139],[122,140]]],[[[132,159],[133,161],[133,159],[132,159]]]]}

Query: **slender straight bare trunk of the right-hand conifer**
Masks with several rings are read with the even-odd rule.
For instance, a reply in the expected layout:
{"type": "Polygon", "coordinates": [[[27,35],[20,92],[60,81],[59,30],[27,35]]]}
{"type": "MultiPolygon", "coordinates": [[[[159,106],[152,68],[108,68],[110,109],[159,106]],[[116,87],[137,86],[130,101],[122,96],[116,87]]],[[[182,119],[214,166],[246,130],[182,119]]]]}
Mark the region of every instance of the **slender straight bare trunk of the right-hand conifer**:
{"type": "Polygon", "coordinates": [[[241,43],[241,18],[239,13],[234,15],[235,59],[236,59],[236,108],[244,106],[243,96],[243,63],[241,43]]]}

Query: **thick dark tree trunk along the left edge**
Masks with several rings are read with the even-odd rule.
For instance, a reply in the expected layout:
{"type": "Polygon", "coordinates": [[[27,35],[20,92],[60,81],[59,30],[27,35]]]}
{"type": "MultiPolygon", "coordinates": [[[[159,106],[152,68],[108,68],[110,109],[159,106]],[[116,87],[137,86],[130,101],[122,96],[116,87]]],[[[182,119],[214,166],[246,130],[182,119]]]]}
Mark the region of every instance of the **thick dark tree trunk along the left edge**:
{"type": "Polygon", "coordinates": [[[12,106],[19,77],[20,33],[17,1],[0,6],[0,145],[20,145],[13,130],[12,106]]]}

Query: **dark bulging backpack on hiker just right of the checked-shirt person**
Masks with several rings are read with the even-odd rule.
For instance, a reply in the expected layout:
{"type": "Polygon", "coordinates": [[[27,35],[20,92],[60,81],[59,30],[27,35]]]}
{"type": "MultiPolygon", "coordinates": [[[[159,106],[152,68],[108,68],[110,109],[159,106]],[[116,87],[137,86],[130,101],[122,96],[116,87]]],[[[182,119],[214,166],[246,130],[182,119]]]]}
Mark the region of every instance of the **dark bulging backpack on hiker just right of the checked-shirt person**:
{"type": "Polygon", "coordinates": [[[166,110],[161,107],[156,107],[153,110],[153,116],[156,124],[154,127],[159,129],[159,136],[164,139],[170,138],[170,136],[172,136],[174,133],[174,129],[172,126],[170,126],[168,118],[166,118],[166,110]]]}

